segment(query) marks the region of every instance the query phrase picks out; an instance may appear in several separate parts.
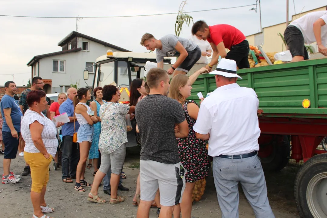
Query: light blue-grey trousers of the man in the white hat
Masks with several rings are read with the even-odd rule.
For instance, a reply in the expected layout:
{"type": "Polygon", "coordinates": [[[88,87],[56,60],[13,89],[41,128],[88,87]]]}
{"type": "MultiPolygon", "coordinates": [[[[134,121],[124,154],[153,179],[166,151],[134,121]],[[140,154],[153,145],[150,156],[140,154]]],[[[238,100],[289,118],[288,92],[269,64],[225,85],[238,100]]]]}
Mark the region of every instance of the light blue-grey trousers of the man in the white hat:
{"type": "Polygon", "coordinates": [[[238,218],[240,183],[256,218],[275,218],[267,197],[267,186],[260,159],[214,157],[213,173],[222,218],[238,218]]]}

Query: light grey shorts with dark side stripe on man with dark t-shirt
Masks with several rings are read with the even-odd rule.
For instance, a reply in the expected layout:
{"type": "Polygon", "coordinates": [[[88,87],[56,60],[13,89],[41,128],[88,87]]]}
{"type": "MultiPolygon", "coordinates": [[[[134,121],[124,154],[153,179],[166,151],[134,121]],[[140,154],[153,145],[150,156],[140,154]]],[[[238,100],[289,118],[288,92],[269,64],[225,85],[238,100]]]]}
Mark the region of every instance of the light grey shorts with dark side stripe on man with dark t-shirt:
{"type": "Polygon", "coordinates": [[[181,203],[185,189],[185,174],[181,162],[165,164],[153,160],[140,160],[141,200],[153,201],[160,190],[160,204],[174,206],[181,203]]]}

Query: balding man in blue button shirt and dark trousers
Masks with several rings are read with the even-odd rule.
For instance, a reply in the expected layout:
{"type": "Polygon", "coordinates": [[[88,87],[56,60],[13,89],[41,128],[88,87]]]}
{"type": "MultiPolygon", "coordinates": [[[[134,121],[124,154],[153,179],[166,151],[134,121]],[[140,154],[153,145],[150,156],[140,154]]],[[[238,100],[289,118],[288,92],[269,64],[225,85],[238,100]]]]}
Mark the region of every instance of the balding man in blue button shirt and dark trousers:
{"type": "Polygon", "coordinates": [[[59,113],[67,113],[70,122],[66,123],[61,128],[62,135],[62,181],[72,183],[73,178],[76,178],[76,168],[79,161],[78,144],[73,143],[73,134],[78,130],[79,124],[77,119],[74,121],[74,98],[77,95],[77,89],[69,88],[67,90],[67,100],[64,101],[59,107],[59,113]],[[75,131],[74,131],[75,122],[75,131]]]}

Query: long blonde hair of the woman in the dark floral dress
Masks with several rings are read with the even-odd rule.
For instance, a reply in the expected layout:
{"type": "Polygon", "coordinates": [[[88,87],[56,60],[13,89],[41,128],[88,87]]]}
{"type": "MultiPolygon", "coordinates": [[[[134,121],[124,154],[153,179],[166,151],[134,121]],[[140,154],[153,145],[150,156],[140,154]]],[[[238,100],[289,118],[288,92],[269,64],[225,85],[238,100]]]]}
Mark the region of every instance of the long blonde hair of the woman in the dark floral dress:
{"type": "Polygon", "coordinates": [[[180,93],[180,88],[185,86],[188,81],[187,75],[178,74],[172,78],[170,81],[170,88],[168,92],[168,97],[175,99],[182,104],[186,100],[185,97],[180,93]]]}

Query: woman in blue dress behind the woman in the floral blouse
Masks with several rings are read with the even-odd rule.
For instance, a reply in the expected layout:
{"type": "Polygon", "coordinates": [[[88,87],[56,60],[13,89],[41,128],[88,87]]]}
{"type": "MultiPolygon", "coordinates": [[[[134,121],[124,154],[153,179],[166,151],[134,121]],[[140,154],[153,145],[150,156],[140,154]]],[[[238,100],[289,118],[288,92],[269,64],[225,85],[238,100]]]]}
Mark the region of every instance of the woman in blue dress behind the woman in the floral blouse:
{"type": "MultiPolygon", "coordinates": [[[[91,103],[91,110],[94,111],[94,116],[98,118],[98,123],[94,124],[94,133],[93,140],[91,144],[91,148],[89,151],[89,160],[90,162],[93,160],[94,172],[93,176],[95,176],[96,171],[98,171],[98,159],[99,159],[99,138],[101,133],[101,119],[100,119],[100,107],[105,102],[102,100],[102,87],[96,87],[93,91],[95,100],[91,103]]],[[[89,166],[90,164],[88,164],[89,166]]],[[[92,164],[91,164],[92,166],[92,164]]],[[[91,168],[91,167],[90,167],[91,168]]]]}

